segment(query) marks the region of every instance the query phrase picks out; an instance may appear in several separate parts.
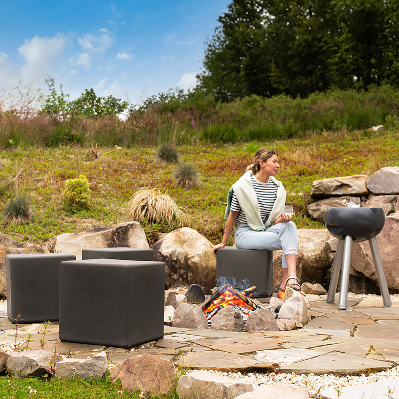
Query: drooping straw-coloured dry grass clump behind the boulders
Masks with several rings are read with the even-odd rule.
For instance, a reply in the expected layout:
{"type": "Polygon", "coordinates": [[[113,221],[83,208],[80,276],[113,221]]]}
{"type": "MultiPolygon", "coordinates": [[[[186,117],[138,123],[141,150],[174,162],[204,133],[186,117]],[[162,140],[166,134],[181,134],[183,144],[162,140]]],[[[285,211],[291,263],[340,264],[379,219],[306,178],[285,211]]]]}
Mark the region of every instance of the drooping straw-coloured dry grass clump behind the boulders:
{"type": "Polygon", "coordinates": [[[138,222],[177,224],[180,227],[189,223],[189,217],[168,194],[146,187],[129,200],[128,217],[138,222]]]}

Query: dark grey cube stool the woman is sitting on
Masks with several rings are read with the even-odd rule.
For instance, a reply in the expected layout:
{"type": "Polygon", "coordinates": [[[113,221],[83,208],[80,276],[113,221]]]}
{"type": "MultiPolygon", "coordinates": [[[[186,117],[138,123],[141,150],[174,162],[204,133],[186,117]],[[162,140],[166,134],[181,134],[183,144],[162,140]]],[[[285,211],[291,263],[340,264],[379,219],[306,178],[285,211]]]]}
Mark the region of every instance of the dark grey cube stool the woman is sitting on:
{"type": "Polygon", "coordinates": [[[237,249],[233,246],[216,251],[216,286],[227,284],[238,290],[256,285],[253,297],[273,294],[273,251],[237,249]]]}

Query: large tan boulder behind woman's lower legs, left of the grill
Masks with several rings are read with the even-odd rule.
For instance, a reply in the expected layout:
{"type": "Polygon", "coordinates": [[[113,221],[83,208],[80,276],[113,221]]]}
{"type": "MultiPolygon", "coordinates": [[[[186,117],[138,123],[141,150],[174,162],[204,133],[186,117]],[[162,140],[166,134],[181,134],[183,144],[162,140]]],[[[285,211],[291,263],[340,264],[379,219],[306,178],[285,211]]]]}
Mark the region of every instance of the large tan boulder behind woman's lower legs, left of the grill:
{"type": "MultiPolygon", "coordinates": [[[[332,237],[327,229],[298,229],[297,276],[301,282],[324,284],[327,269],[330,266],[330,246],[327,241],[332,237]]],[[[273,282],[278,284],[282,278],[282,251],[273,252],[273,282]]],[[[285,281],[284,281],[285,282],[285,281]]]]}

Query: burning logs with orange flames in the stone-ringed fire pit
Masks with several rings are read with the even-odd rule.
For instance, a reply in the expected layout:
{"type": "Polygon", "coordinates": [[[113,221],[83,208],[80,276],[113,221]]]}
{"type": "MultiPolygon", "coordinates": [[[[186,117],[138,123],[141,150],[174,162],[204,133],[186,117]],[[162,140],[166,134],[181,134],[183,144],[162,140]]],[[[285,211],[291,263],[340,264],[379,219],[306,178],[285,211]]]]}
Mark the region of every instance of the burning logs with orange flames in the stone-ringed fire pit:
{"type": "Polygon", "coordinates": [[[205,313],[208,323],[210,323],[210,319],[220,309],[223,309],[226,306],[234,306],[240,312],[242,319],[245,322],[250,312],[262,308],[262,306],[249,298],[249,296],[255,291],[255,286],[243,291],[238,291],[234,287],[224,284],[200,306],[202,311],[205,313]]]}

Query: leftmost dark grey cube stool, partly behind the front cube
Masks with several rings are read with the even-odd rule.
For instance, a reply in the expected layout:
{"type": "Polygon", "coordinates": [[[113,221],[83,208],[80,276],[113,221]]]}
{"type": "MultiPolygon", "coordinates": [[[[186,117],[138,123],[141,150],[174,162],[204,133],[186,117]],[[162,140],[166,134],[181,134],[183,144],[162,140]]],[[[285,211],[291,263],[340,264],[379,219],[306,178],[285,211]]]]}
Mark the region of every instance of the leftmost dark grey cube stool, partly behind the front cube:
{"type": "Polygon", "coordinates": [[[59,320],[59,268],[70,253],[7,255],[7,316],[13,323],[59,320]]]}

